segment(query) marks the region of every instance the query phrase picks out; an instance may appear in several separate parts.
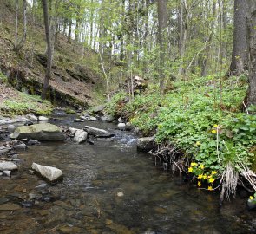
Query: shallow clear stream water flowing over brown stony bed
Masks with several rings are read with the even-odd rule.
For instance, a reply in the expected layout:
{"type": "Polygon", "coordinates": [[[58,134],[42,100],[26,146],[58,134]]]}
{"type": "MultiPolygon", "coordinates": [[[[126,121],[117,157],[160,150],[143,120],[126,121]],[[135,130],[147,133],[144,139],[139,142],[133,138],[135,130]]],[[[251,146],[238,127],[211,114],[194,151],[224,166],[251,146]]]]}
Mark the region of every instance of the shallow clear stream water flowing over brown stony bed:
{"type": "MultiPolygon", "coordinates": [[[[56,122],[82,128],[70,118],[56,122]]],[[[255,212],[237,198],[219,208],[219,195],[154,166],[138,153],[135,136],[101,122],[90,126],[116,133],[95,145],[43,143],[20,152],[23,165],[1,179],[0,233],[256,233],[255,212]],[[55,185],[30,173],[32,162],[64,173],[55,185]],[[10,211],[12,210],[13,211],[10,211]]]]}

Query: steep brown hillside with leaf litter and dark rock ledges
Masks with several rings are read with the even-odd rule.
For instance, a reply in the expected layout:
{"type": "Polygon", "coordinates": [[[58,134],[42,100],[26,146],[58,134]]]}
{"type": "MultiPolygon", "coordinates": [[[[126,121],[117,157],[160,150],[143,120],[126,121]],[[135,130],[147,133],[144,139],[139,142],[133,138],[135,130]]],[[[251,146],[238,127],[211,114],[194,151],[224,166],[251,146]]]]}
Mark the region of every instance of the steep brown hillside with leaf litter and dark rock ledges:
{"type": "MultiPolygon", "coordinates": [[[[16,54],[15,12],[6,3],[0,3],[0,69],[9,83],[27,94],[41,94],[46,57],[44,29],[33,25],[28,17],[28,36],[23,49],[16,54]]],[[[19,17],[19,34],[22,35],[23,18],[19,17]]],[[[102,88],[101,72],[95,52],[82,49],[81,44],[67,42],[58,35],[55,48],[52,79],[49,82],[49,99],[58,104],[89,107],[97,100],[95,89],[102,88]],[[82,55],[82,51],[84,51],[82,55]]]]}

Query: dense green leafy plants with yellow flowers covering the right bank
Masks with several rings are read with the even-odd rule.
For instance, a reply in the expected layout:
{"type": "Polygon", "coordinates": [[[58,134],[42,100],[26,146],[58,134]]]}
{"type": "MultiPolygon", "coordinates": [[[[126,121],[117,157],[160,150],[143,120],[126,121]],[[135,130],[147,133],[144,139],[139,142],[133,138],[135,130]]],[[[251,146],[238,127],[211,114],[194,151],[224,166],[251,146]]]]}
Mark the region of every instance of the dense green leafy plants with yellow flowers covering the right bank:
{"type": "Polygon", "coordinates": [[[107,109],[127,117],[145,135],[155,134],[157,142],[172,142],[192,162],[188,172],[198,185],[213,190],[218,178],[225,183],[227,172],[253,168],[256,116],[240,111],[246,88],[246,76],[221,82],[211,76],[194,78],[174,82],[164,96],[150,87],[126,104],[124,93],[115,94],[107,109]]]}

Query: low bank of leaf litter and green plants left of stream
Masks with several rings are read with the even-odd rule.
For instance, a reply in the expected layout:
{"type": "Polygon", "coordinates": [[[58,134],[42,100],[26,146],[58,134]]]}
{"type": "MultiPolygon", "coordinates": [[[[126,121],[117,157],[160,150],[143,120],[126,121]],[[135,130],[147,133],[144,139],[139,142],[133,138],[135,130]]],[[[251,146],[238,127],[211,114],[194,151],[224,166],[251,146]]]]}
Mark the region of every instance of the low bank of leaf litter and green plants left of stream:
{"type": "Polygon", "coordinates": [[[53,106],[41,97],[19,92],[6,84],[6,77],[0,73],[0,114],[42,114],[48,115],[53,106]]]}

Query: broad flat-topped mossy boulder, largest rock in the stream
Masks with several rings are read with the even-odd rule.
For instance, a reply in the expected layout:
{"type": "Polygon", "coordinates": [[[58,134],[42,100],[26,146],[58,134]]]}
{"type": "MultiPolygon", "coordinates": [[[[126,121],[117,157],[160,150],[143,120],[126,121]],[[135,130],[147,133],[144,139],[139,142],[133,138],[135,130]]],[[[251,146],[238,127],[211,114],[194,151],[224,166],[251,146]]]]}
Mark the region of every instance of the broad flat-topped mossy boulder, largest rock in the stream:
{"type": "Polygon", "coordinates": [[[16,127],[14,133],[10,134],[11,139],[35,139],[35,140],[64,140],[65,136],[60,127],[50,123],[34,124],[30,126],[16,127]]]}

